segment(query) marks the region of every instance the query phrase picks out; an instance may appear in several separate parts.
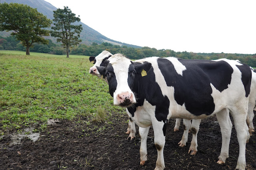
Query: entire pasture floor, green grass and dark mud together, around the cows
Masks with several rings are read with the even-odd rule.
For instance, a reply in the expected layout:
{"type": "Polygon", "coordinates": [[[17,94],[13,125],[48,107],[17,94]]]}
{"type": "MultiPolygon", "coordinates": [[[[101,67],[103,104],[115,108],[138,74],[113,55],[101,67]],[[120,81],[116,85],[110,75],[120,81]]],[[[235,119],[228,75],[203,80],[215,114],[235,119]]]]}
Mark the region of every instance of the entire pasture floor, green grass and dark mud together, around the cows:
{"type": "MultiPolygon", "coordinates": [[[[0,167],[2,169],[153,169],[157,158],[153,130],[148,161],[139,166],[140,138],[126,140],[125,109],[113,106],[105,81],[89,74],[88,56],[0,51],[0,167]],[[49,119],[57,120],[48,125],[49,119]],[[27,131],[30,129],[30,131],[27,131]],[[13,134],[40,133],[13,143],[13,134]]],[[[238,142],[234,126],[226,164],[218,165],[221,133],[216,117],[204,119],[198,153],[179,147],[183,128],[170,120],[164,148],[165,169],[234,169],[238,142]]],[[[233,122],[233,121],[232,121],[233,122]]],[[[256,121],[254,119],[254,125],[256,121]]],[[[246,168],[256,169],[256,134],[246,144],[246,168]]]]}

